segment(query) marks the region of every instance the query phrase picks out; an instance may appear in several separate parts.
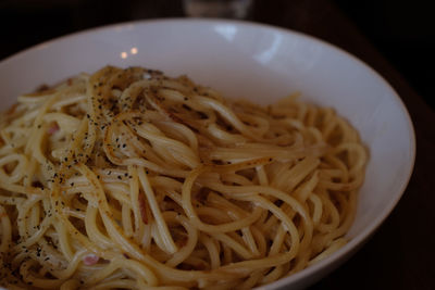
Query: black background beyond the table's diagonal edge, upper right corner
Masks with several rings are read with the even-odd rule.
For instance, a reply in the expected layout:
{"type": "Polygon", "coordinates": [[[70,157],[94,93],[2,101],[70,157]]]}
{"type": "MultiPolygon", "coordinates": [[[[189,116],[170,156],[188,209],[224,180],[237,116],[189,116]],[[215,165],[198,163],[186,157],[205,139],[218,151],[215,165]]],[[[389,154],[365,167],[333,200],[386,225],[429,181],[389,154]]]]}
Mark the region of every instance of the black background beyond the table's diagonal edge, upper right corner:
{"type": "Polygon", "coordinates": [[[335,2],[434,108],[435,1],[335,2]]]}

